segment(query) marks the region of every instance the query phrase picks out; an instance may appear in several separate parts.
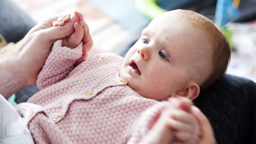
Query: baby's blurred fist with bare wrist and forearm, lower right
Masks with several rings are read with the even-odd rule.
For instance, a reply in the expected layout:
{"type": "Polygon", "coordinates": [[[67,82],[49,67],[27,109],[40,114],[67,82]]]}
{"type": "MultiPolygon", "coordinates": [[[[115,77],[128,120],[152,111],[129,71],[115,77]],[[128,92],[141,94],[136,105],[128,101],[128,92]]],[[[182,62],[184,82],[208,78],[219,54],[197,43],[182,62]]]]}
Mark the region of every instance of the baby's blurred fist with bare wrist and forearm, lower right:
{"type": "Polygon", "coordinates": [[[170,98],[168,101],[170,103],[161,110],[142,144],[170,144],[194,138],[197,120],[191,114],[192,101],[187,98],[170,98]]]}

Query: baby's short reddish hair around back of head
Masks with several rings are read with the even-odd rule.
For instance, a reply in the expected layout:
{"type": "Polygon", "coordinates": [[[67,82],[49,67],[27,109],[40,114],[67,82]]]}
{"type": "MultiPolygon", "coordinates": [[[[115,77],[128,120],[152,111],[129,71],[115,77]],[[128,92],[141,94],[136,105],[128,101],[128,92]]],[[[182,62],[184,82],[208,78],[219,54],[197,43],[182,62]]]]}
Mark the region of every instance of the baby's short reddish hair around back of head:
{"type": "MultiPolygon", "coordinates": [[[[210,42],[213,55],[212,55],[212,71],[206,81],[200,85],[200,89],[205,90],[217,79],[221,78],[228,67],[230,62],[230,44],[220,27],[216,26],[213,21],[199,13],[190,10],[177,10],[178,14],[184,18],[185,21],[191,23],[196,28],[205,32],[208,41],[210,42]],[[181,12],[181,13],[180,13],[181,12]]],[[[209,64],[210,65],[210,64],[209,64]]]]}

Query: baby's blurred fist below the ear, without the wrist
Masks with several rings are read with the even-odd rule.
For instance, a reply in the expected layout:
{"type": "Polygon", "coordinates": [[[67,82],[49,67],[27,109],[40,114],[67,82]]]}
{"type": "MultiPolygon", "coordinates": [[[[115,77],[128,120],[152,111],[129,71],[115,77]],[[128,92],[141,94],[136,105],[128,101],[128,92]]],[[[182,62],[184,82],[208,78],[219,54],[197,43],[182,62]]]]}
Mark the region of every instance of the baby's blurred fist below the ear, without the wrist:
{"type": "Polygon", "coordinates": [[[192,101],[187,98],[170,98],[168,105],[159,118],[173,131],[175,141],[187,142],[194,138],[197,120],[191,114],[192,101]]]}

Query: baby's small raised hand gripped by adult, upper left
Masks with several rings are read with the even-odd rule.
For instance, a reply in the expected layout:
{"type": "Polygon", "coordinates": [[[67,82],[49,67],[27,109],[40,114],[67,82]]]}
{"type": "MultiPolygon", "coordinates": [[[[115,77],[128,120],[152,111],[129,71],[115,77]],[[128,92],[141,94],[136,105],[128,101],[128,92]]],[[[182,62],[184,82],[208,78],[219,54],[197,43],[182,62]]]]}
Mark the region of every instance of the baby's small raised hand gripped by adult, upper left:
{"type": "MultiPolygon", "coordinates": [[[[66,23],[74,23],[74,25],[68,25],[72,26],[73,33],[63,39],[62,46],[67,46],[69,48],[75,48],[79,43],[81,43],[83,34],[84,34],[84,29],[83,26],[85,24],[83,15],[79,12],[74,12],[72,15],[65,15],[65,16],[60,16],[57,21],[53,22],[53,26],[65,26],[66,23]]],[[[68,29],[64,29],[68,30],[68,29]]]]}

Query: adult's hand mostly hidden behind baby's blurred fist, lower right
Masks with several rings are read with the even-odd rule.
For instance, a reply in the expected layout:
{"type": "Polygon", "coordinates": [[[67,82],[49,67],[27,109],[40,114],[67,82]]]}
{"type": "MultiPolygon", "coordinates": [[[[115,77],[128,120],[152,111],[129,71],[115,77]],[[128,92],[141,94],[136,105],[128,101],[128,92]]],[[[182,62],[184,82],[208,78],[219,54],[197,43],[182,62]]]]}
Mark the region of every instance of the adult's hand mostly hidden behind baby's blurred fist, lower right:
{"type": "Polygon", "coordinates": [[[195,106],[192,106],[192,114],[196,116],[200,123],[201,137],[198,144],[217,144],[207,117],[195,106]]]}

